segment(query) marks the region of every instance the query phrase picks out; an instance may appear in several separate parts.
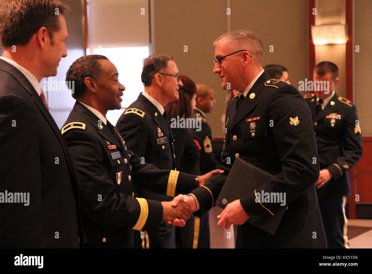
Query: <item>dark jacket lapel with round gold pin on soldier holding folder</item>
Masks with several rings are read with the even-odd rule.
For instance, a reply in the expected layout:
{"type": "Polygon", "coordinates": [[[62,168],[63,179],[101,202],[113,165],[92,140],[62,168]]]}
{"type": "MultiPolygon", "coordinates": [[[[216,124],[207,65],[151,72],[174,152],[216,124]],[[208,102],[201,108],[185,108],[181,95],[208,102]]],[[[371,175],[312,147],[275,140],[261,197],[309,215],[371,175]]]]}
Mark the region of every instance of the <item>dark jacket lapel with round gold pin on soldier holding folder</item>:
{"type": "Polygon", "coordinates": [[[256,99],[259,95],[260,90],[263,87],[264,82],[268,79],[271,79],[271,78],[269,74],[266,71],[264,71],[262,75],[257,79],[256,83],[254,83],[254,85],[251,87],[246,98],[244,98],[243,102],[241,102],[232,120],[233,122],[232,122],[231,127],[234,127],[235,125],[237,125],[237,123],[239,123],[241,119],[246,117],[247,114],[250,113],[254,109],[254,107],[256,107],[257,105],[256,99]]]}

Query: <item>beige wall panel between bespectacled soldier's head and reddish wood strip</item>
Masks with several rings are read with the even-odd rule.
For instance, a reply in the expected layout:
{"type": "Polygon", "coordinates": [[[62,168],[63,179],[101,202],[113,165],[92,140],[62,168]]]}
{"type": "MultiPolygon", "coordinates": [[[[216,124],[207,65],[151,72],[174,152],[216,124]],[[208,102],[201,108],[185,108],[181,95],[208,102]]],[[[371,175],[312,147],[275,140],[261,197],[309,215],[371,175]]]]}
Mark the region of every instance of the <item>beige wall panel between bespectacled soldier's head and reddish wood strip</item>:
{"type": "Polygon", "coordinates": [[[263,66],[285,66],[297,89],[298,82],[308,78],[307,9],[302,0],[231,0],[231,30],[248,29],[258,35],[264,47],[263,66]]]}

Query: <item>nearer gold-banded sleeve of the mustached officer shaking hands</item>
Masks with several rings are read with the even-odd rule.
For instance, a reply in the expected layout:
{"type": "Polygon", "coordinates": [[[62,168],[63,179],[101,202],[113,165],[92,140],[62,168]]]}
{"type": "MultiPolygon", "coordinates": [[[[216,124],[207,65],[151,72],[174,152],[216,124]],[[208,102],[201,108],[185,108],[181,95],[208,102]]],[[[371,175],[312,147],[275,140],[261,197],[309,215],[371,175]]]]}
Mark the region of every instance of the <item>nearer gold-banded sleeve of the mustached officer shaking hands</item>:
{"type": "Polygon", "coordinates": [[[81,208],[89,218],[135,230],[158,229],[163,218],[161,203],[116,192],[101,146],[92,134],[75,129],[64,133],[64,138],[80,177],[81,208]]]}

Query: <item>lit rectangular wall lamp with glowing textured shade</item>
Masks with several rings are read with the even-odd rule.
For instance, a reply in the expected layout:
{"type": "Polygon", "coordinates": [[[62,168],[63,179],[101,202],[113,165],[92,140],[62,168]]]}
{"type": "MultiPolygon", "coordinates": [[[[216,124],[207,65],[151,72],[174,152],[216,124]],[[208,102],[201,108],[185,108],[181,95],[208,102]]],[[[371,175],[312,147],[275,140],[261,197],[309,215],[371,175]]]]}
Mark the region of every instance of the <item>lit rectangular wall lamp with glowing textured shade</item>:
{"type": "Polygon", "coordinates": [[[345,44],[347,42],[347,25],[311,25],[311,38],[314,45],[345,44]]]}

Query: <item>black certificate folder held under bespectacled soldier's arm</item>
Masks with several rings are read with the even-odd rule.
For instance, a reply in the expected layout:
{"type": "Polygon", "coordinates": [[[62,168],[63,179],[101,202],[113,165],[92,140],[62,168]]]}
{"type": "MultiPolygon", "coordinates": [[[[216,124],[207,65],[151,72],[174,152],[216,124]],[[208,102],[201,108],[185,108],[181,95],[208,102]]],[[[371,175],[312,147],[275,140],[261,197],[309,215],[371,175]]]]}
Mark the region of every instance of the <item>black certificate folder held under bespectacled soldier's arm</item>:
{"type": "MultiPolygon", "coordinates": [[[[225,208],[228,203],[248,195],[273,177],[274,175],[237,158],[218,196],[216,205],[225,208]]],[[[263,219],[253,217],[249,218],[247,222],[274,235],[286,208],[286,206],[282,206],[278,212],[273,212],[274,215],[269,213],[268,218],[266,218],[267,216],[263,219]]]]}

